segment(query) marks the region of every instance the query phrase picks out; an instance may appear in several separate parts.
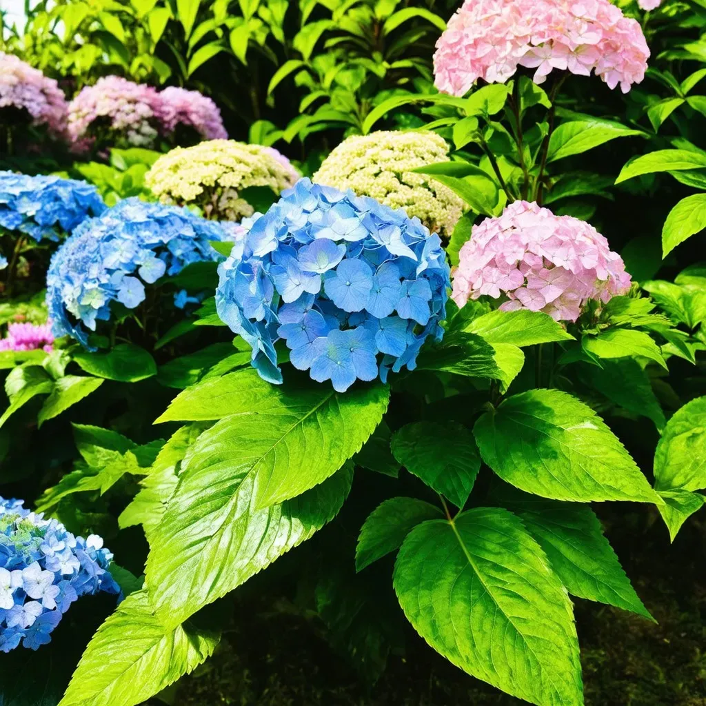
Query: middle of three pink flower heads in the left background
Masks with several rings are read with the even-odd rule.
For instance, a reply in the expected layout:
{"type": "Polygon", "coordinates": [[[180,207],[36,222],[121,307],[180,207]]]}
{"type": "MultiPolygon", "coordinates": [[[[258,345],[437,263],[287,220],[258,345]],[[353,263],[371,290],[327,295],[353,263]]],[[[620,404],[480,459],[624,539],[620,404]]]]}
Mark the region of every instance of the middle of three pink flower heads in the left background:
{"type": "Polygon", "coordinates": [[[104,76],[85,86],[68,104],[68,133],[74,143],[86,144],[89,129],[98,119],[109,121],[112,130],[133,147],[149,147],[159,122],[157,91],[120,76],[104,76]]]}

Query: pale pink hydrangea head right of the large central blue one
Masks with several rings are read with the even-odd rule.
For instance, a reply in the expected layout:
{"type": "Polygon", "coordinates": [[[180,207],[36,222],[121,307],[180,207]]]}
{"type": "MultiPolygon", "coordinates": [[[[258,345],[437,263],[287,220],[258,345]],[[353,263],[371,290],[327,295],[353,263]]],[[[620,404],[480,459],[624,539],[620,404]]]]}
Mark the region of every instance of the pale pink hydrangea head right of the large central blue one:
{"type": "Polygon", "coordinates": [[[556,321],[576,321],[589,299],[630,289],[621,256],[592,225],[527,201],[474,225],[452,274],[458,306],[504,295],[503,311],[544,311],[556,321]]]}

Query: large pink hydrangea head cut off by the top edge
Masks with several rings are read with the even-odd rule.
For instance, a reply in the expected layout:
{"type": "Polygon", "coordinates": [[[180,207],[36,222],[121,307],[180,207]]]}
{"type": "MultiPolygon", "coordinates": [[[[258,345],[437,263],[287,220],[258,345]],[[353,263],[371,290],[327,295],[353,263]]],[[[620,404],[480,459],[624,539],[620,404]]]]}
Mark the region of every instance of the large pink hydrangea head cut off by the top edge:
{"type": "MultiPolygon", "coordinates": [[[[650,0],[647,0],[650,1],[650,0]]],[[[465,0],[436,42],[438,90],[462,96],[479,78],[504,83],[517,66],[542,83],[558,68],[624,93],[645,77],[645,36],[609,0],[465,0]]]]}

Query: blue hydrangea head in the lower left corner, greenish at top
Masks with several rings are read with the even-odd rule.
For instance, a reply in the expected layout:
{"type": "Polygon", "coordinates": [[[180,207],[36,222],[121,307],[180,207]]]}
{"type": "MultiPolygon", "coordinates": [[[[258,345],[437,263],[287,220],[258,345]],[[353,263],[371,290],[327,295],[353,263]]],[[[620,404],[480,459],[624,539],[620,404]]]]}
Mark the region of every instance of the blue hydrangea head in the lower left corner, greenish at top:
{"type": "Polygon", "coordinates": [[[0,650],[20,642],[37,650],[76,599],[119,595],[107,570],[112,558],[97,534],[74,537],[61,522],[0,497],[0,650]]]}

